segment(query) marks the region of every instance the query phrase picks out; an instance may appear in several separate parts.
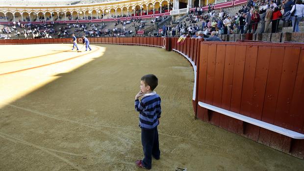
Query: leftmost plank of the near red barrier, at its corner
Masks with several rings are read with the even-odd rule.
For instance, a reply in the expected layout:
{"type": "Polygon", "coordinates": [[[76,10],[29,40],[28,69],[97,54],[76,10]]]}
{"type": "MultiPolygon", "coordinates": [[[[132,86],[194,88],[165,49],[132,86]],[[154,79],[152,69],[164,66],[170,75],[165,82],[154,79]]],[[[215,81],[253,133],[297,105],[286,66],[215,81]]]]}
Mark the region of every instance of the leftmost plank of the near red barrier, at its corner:
{"type": "MultiPolygon", "coordinates": [[[[199,67],[199,79],[198,82],[198,101],[205,102],[206,96],[206,80],[207,80],[207,60],[208,54],[208,44],[201,45],[201,53],[200,53],[200,67],[199,67]]],[[[197,117],[204,120],[204,115],[206,113],[206,109],[202,107],[198,107],[197,117]]]]}

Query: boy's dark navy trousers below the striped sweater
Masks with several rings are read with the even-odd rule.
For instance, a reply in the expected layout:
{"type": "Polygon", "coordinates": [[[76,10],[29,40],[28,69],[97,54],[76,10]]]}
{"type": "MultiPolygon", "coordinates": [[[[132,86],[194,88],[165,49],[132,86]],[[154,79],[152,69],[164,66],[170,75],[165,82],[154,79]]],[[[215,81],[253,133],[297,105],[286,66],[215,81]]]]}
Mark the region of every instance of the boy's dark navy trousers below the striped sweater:
{"type": "Polygon", "coordinates": [[[152,155],[155,159],[159,159],[160,157],[157,126],[151,130],[141,129],[141,144],[143,145],[145,155],[142,162],[145,168],[151,169],[152,155]]]}

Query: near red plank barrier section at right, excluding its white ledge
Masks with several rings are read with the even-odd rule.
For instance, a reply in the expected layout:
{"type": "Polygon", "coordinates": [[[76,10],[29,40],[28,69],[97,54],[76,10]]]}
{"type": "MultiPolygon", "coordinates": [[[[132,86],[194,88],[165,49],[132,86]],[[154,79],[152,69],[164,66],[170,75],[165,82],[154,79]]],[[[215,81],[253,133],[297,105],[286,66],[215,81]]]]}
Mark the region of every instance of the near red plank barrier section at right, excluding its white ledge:
{"type": "MultiPolygon", "coordinates": [[[[198,101],[304,133],[303,48],[300,44],[203,42],[198,101]]],[[[304,140],[294,140],[200,106],[197,117],[304,157],[304,140]]]]}

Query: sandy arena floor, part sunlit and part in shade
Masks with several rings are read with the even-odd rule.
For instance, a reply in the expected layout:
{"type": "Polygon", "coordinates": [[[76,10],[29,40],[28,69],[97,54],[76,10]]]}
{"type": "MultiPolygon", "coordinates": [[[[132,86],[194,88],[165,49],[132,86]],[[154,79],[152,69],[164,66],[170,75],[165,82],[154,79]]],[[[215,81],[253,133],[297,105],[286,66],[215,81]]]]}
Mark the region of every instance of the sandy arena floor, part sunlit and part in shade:
{"type": "Polygon", "coordinates": [[[177,53],[71,47],[0,46],[1,171],[141,170],[133,105],[148,73],[158,76],[162,98],[161,159],[152,171],[303,171],[303,160],[194,120],[193,70],[177,53]]]}

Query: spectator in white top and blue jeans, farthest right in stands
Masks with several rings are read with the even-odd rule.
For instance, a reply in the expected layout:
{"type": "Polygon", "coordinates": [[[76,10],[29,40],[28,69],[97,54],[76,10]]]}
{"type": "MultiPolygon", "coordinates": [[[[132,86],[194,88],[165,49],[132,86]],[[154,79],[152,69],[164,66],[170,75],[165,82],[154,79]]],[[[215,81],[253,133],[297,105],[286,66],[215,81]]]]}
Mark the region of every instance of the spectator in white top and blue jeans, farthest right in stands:
{"type": "Polygon", "coordinates": [[[299,32],[299,23],[304,15],[304,5],[302,4],[302,0],[296,0],[296,4],[292,7],[290,13],[294,12],[294,16],[291,18],[292,26],[295,28],[295,32],[299,32]],[[294,12],[294,10],[296,10],[294,12]]]}

